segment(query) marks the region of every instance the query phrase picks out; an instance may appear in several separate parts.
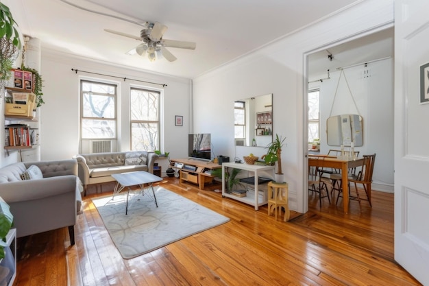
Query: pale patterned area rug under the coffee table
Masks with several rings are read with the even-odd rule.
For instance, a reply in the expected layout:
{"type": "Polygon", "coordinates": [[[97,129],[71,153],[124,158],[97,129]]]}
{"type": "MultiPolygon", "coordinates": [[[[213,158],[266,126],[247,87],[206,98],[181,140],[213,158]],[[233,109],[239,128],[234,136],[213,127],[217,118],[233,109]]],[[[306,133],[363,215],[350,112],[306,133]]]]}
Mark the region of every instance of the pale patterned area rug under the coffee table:
{"type": "Polygon", "coordinates": [[[155,188],[158,208],[151,192],[130,195],[125,215],[126,193],[93,198],[112,241],[124,259],[151,252],[169,243],[219,226],[230,219],[172,191],[155,188]]]}

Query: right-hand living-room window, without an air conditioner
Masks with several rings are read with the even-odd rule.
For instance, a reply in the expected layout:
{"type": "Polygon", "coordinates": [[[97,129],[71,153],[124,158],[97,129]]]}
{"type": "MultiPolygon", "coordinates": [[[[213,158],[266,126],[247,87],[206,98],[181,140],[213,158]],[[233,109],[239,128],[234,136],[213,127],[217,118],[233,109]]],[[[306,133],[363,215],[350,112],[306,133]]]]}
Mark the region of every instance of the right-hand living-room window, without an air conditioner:
{"type": "Polygon", "coordinates": [[[160,148],[160,92],[131,88],[131,150],[160,148]]]}

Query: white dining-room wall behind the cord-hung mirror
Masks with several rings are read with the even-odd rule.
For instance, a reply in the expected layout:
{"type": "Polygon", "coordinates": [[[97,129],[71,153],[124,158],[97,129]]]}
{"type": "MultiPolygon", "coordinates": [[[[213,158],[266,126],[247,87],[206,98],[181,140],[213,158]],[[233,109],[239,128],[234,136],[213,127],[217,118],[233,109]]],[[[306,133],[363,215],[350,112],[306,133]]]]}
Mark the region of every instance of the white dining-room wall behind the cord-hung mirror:
{"type": "MultiPolygon", "coordinates": [[[[334,71],[330,73],[330,80],[310,84],[310,88],[320,88],[321,154],[339,149],[327,144],[328,117],[362,116],[363,146],[354,149],[360,151],[360,155],[377,154],[373,189],[393,193],[393,59],[344,69],[341,78],[340,74],[341,71],[334,71]]],[[[323,75],[318,78],[320,76],[323,75]]]]}

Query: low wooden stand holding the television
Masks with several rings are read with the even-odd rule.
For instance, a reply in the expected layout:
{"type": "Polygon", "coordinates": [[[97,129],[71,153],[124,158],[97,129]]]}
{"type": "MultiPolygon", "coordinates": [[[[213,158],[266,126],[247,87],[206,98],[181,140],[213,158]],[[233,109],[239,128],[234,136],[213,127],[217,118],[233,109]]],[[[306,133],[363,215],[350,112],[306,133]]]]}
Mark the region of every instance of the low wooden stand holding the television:
{"type": "Polygon", "coordinates": [[[212,169],[219,169],[222,166],[198,159],[172,159],[173,168],[179,171],[179,183],[192,182],[198,184],[200,190],[204,189],[206,183],[213,181],[215,176],[211,175],[212,169]]]}

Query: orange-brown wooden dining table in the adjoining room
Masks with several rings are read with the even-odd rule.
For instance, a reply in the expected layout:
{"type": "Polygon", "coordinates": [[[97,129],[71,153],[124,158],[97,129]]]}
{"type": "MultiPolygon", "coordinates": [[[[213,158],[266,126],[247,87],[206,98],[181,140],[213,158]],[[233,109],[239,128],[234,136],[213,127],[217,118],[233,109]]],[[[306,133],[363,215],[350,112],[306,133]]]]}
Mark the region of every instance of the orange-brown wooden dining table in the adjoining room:
{"type": "MultiPolygon", "coordinates": [[[[328,156],[323,154],[308,154],[308,166],[341,169],[341,187],[343,189],[344,213],[349,212],[349,180],[348,169],[363,165],[363,157],[328,156]]],[[[368,198],[371,198],[371,184],[367,184],[368,198]]]]}

